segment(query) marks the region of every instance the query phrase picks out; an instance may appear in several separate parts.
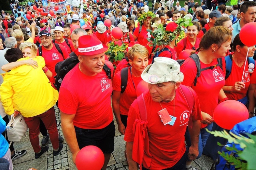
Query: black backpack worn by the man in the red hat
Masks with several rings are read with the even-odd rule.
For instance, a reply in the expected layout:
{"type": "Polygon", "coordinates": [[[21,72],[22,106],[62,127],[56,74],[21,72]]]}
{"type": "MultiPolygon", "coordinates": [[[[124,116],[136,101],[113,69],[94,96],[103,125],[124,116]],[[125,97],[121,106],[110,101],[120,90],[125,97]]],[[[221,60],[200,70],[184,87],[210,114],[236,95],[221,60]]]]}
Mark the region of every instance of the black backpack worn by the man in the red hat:
{"type": "MultiPolygon", "coordinates": [[[[72,70],[78,63],[79,63],[78,57],[72,56],[56,64],[55,66],[56,76],[54,76],[55,78],[54,85],[58,91],[65,75],[70,70],[72,70]]],[[[111,69],[106,64],[104,64],[103,69],[105,70],[106,75],[108,76],[108,79],[111,79],[111,69]]]]}

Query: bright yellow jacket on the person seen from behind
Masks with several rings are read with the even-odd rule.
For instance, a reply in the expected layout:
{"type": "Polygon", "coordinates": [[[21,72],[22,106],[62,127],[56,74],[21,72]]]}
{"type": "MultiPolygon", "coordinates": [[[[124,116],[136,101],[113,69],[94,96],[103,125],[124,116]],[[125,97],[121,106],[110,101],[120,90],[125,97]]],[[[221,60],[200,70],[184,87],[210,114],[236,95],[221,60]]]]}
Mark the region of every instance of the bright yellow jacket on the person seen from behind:
{"type": "MultiPolygon", "coordinates": [[[[28,59],[20,58],[18,61],[28,59]]],[[[51,86],[42,70],[44,58],[37,56],[33,60],[38,63],[37,69],[23,65],[4,73],[0,96],[8,115],[17,110],[24,117],[37,116],[53,107],[58,100],[58,91],[51,86]]]]}

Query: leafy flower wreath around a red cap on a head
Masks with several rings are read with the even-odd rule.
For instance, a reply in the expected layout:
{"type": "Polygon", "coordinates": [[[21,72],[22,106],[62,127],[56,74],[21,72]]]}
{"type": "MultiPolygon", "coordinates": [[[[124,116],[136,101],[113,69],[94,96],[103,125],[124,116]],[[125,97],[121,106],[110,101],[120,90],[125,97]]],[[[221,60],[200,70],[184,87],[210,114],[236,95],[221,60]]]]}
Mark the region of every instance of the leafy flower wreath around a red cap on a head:
{"type": "Polygon", "coordinates": [[[155,22],[151,26],[155,28],[155,30],[153,32],[150,29],[147,30],[152,35],[151,38],[147,38],[147,40],[152,42],[153,46],[159,46],[159,48],[162,49],[166,45],[169,45],[181,31],[185,31],[186,27],[193,26],[191,20],[190,17],[184,16],[174,22],[168,23],[166,27],[155,22]]]}

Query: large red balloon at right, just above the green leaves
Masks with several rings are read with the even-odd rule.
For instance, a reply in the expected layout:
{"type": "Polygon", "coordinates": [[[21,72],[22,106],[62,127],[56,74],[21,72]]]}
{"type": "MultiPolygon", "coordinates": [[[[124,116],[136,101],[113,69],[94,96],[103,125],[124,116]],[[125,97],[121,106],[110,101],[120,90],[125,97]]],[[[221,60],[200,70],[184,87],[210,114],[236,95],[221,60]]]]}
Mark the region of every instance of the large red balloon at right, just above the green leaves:
{"type": "Polygon", "coordinates": [[[213,119],[223,129],[232,129],[241,121],[248,119],[248,109],[239,101],[227,100],[220,103],[213,112],[213,119]]]}

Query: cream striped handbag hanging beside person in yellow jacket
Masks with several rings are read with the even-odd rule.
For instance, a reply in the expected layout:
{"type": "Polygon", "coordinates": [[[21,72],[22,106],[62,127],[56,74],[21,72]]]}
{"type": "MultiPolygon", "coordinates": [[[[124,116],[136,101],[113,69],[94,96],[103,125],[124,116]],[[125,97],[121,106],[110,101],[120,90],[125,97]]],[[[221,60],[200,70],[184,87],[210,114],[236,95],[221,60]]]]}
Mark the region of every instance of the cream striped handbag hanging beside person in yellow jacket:
{"type": "Polygon", "coordinates": [[[9,141],[18,142],[28,130],[28,125],[24,117],[18,114],[16,117],[11,115],[11,120],[6,126],[6,132],[9,141]]]}

